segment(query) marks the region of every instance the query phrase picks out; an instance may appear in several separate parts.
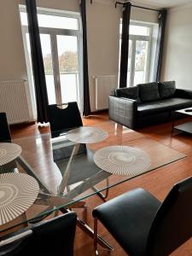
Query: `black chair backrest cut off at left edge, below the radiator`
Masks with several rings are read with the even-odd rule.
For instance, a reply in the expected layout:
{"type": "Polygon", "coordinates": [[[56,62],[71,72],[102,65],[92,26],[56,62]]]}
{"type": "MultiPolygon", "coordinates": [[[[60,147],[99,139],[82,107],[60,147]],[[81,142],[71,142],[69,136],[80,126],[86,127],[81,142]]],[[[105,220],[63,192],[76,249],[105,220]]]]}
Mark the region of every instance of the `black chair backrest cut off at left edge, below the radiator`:
{"type": "Polygon", "coordinates": [[[0,142],[11,142],[9,124],[6,113],[0,113],[0,142]]]}

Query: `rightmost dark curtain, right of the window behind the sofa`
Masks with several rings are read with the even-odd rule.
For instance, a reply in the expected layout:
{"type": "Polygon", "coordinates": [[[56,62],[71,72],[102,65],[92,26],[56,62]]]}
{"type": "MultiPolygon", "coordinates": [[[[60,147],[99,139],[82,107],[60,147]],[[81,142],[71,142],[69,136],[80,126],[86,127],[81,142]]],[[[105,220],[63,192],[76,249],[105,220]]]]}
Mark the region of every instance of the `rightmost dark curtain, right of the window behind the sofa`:
{"type": "Polygon", "coordinates": [[[154,61],[154,81],[160,81],[160,73],[162,67],[162,58],[163,58],[163,46],[164,46],[164,37],[165,37],[165,29],[166,29],[166,15],[167,10],[160,10],[159,14],[159,31],[157,37],[157,47],[154,61]]]}

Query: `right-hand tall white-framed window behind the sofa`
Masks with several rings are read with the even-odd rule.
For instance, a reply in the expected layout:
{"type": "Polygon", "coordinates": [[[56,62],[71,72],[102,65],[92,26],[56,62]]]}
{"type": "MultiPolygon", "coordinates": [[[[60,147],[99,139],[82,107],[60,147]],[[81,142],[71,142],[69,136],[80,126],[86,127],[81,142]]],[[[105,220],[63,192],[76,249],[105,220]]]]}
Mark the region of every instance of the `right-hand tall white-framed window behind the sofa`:
{"type": "MultiPolygon", "coordinates": [[[[122,24],[119,27],[121,47],[122,24]]],[[[132,22],[130,24],[127,84],[134,86],[149,80],[153,25],[132,22]]],[[[120,55],[120,49],[119,49],[120,55]]]]}

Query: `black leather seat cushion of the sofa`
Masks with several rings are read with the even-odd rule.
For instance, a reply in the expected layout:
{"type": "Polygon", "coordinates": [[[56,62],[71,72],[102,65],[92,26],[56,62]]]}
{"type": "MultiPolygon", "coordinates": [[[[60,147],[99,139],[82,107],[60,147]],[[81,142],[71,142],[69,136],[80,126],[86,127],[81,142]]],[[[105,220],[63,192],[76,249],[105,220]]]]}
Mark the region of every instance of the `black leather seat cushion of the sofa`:
{"type": "Polygon", "coordinates": [[[172,112],[178,109],[189,107],[192,107],[192,99],[177,97],[138,104],[137,113],[139,116],[145,116],[154,113],[172,112]]]}

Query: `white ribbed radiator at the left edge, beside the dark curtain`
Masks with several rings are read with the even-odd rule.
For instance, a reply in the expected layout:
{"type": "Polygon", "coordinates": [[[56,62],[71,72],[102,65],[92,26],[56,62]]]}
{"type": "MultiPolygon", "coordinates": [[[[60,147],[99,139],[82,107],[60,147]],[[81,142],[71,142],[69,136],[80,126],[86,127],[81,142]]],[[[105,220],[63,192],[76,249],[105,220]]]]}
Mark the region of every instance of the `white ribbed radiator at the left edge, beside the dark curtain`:
{"type": "Polygon", "coordinates": [[[0,112],[7,114],[9,125],[30,120],[25,80],[0,82],[0,112]]]}

